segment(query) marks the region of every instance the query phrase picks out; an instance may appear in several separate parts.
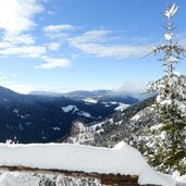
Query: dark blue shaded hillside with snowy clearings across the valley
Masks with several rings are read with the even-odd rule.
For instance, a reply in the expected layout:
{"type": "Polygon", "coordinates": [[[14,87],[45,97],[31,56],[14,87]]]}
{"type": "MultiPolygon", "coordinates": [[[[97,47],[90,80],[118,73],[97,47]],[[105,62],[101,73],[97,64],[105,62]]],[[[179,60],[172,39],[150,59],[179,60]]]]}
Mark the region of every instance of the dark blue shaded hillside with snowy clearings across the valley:
{"type": "Polygon", "coordinates": [[[0,141],[14,136],[20,142],[54,141],[69,134],[76,120],[87,124],[102,121],[117,109],[138,101],[109,92],[102,97],[106,91],[83,91],[74,99],[67,95],[22,95],[0,87],[0,141]]]}

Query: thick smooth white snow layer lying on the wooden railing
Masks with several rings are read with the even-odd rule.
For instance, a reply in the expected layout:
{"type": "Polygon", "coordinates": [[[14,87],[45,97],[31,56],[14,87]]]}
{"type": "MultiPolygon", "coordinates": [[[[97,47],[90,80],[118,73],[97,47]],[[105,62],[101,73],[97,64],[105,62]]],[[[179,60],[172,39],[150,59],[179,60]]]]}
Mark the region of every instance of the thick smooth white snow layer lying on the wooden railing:
{"type": "MultiPolygon", "coordinates": [[[[156,172],[147,164],[138,150],[123,141],[117,144],[115,148],[72,144],[0,144],[0,165],[131,174],[139,175],[139,184],[176,185],[175,179],[156,172]]],[[[0,185],[2,179],[1,177],[0,185]]]]}

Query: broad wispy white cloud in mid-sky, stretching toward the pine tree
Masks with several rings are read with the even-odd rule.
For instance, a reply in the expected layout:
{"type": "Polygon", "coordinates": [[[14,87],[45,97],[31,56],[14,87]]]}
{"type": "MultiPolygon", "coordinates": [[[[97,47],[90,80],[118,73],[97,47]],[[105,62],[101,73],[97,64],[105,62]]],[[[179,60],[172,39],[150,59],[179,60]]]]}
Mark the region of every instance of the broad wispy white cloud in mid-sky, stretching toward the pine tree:
{"type": "Polygon", "coordinates": [[[69,42],[72,47],[97,57],[114,57],[121,59],[140,58],[149,51],[149,46],[110,42],[112,39],[109,38],[108,34],[109,32],[107,30],[90,30],[69,39],[69,42]]]}

